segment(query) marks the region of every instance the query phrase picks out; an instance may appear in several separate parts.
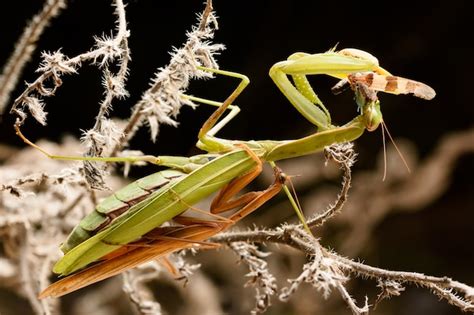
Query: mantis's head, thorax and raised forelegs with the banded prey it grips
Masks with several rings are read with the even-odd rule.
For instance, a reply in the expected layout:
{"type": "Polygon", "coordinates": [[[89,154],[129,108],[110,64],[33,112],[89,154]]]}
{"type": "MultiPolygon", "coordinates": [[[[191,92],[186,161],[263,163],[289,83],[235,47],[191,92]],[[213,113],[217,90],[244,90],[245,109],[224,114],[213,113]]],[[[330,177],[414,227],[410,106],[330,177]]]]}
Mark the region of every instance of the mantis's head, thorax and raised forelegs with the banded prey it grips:
{"type": "Polygon", "coordinates": [[[275,64],[270,76],[291,104],[318,132],[288,141],[272,148],[265,156],[269,160],[304,155],[334,143],[352,141],[367,129],[373,131],[383,123],[377,91],[392,94],[413,94],[430,100],[436,93],[426,84],[392,76],[379,66],[377,58],[358,49],[343,49],[322,54],[295,53],[288,60],[275,64]],[[347,84],[355,93],[359,115],[341,127],[331,124],[327,109],[309,84],[306,75],[326,74],[342,81],[333,88],[338,94],[347,84]],[[292,76],[294,85],[288,79],[292,76]]]}

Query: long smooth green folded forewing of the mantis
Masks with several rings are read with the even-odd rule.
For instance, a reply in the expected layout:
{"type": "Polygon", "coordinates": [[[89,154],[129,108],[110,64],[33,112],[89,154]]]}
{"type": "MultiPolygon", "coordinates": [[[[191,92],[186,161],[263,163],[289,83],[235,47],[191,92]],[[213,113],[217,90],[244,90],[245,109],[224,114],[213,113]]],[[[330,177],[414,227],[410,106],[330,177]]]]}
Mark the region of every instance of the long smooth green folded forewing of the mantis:
{"type": "Polygon", "coordinates": [[[71,274],[140,239],[144,234],[184,212],[189,205],[206,198],[255,166],[256,162],[244,150],[219,156],[190,174],[173,180],[132,206],[110,225],[69,250],[56,263],[53,271],[63,276],[71,274]]]}

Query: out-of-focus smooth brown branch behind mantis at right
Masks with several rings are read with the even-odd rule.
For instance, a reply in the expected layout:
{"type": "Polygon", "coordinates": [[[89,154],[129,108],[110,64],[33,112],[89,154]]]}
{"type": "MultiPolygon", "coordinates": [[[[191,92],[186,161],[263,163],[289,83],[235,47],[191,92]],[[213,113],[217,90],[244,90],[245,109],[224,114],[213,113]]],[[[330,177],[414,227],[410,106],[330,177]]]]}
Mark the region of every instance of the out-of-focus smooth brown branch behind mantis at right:
{"type": "MultiPolygon", "coordinates": [[[[338,238],[344,240],[339,248],[347,255],[357,255],[366,248],[372,231],[390,213],[417,211],[439,198],[452,181],[452,171],[459,157],[474,152],[474,129],[443,137],[433,152],[420,162],[406,142],[398,142],[411,161],[412,174],[407,176],[403,166],[395,163],[399,161],[398,153],[388,150],[389,161],[392,161],[388,164],[388,178],[380,181],[382,163],[376,172],[358,173],[353,179],[351,203],[331,222],[333,227],[345,227],[338,238]],[[366,184],[373,182],[378,184],[366,184]]],[[[311,195],[311,203],[322,197],[316,191],[311,195]]]]}

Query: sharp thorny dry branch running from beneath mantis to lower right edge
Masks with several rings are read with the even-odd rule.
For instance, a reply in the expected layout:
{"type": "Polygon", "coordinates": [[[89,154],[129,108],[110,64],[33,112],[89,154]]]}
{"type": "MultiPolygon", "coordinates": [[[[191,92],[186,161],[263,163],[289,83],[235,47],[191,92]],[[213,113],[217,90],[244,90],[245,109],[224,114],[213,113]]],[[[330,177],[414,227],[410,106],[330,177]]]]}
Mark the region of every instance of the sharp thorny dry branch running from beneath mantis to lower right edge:
{"type": "MultiPolygon", "coordinates": [[[[438,297],[445,299],[462,311],[472,312],[474,310],[474,288],[466,284],[453,281],[447,277],[440,278],[414,272],[389,271],[357,263],[324,249],[316,239],[308,242],[309,236],[305,234],[304,230],[298,227],[286,226],[265,231],[228,232],[213,237],[211,240],[228,244],[234,242],[285,244],[301,250],[306,255],[312,255],[311,261],[303,267],[303,273],[297,279],[291,280],[290,288],[284,288],[281,291],[280,299],[283,301],[286,301],[301,283],[310,282],[318,290],[323,291],[325,297],[329,295],[331,288],[337,288],[347,303],[349,301],[347,299],[348,295],[342,287],[350,279],[349,274],[354,274],[357,277],[375,279],[384,283],[396,281],[399,284],[410,283],[429,288],[438,297]],[[342,271],[345,271],[345,273],[341,273],[342,271]]],[[[395,287],[393,283],[391,287],[395,287]]],[[[390,295],[399,295],[401,291],[403,291],[402,288],[397,288],[397,294],[392,291],[390,295]]],[[[354,314],[365,314],[368,307],[366,302],[364,307],[357,308],[358,311],[356,311],[355,304],[352,305],[352,302],[350,302],[348,305],[354,314]]]]}

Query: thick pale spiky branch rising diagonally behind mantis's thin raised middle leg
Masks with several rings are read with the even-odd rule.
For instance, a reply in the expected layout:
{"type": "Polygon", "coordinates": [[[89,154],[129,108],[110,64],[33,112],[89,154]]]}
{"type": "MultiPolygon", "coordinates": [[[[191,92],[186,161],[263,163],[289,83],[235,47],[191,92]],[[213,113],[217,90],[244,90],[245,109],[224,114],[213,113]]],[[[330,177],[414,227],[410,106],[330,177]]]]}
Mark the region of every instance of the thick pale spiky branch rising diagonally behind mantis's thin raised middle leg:
{"type": "Polygon", "coordinates": [[[218,68],[214,56],[224,46],[211,44],[208,40],[214,37],[218,25],[212,12],[212,1],[206,2],[206,7],[198,16],[198,26],[187,34],[188,40],[171,55],[170,63],[155,73],[150,88],[134,106],[127,126],[123,130],[123,138],[112,151],[112,155],[122,150],[123,146],[135,135],[138,127],[148,122],[153,141],[158,135],[161,124],[177,126],[174,118],[179,114],[183,105],[194,107],[194,104],[181,97],[187,89],[189,81],[195,78],[208,78],[210,74],[196,69],[197,65],[218,68]]]}

